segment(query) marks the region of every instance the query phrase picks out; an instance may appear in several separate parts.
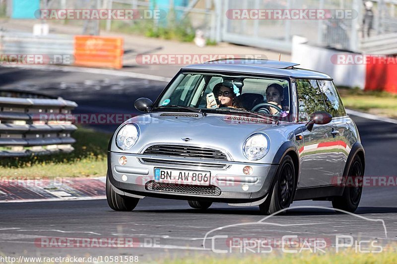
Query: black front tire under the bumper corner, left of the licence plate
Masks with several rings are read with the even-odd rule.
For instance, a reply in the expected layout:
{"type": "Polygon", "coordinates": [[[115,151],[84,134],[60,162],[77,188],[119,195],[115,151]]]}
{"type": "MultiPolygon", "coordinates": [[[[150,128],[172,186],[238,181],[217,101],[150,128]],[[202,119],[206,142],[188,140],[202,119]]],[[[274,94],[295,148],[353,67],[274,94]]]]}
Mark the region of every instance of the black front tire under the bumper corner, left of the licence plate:
{"type": "Polygon", "coordinates": [[[109,177],[106,176],[106,200],[115,211],[132,211],[139,202],[139,198],[123,196],[112,189],[109,177]]]}

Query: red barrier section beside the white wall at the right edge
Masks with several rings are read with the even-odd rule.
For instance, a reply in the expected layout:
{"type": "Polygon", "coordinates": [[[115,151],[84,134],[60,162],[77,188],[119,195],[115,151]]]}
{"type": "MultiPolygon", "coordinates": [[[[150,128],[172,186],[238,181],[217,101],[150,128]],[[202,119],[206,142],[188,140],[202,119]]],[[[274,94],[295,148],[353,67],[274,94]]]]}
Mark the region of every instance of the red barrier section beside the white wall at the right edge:
{"type": "Polygon", "coordinates": [[[389,60],[384,57],[372,57],[374,62],[366,65],[365,90],[382,90],[397,94],[396,58],[390,57],[389,60]]]}

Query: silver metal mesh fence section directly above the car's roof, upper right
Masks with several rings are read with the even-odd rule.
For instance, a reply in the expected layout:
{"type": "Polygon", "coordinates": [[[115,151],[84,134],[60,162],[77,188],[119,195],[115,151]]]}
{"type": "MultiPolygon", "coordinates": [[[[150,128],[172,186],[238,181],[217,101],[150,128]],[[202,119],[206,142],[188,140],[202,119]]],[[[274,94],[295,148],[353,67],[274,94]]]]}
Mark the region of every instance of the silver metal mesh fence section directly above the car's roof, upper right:
{"type": "MultiPolygon", "coordinates": [[[[224,9],[359,9],[361,0],[225,0],[224,9]]],[[[284,52],[291,51],[293,35],[307,38],[312,45],[357,50],[358,19],[230,20],[225,17],[223,39],[284,52]]]]}

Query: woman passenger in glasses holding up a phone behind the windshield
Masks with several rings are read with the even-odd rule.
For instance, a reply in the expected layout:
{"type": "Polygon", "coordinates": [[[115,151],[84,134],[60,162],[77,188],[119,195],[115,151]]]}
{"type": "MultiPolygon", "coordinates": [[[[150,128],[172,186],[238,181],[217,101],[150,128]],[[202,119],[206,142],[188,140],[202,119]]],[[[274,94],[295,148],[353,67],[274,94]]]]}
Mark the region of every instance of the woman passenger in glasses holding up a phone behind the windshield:
{"type": "MultiPolygon", "coordinates": [[[[241,104],[238,102],[237,97],[240,95],[240,89],[233,84],[233,82],[223,82],[218,83],[214,86],[214,95],[218,98],[219,107],[232,107],[232,108],[243,108],[241,104]],[[231,87],[225,87],[224,85],[230,85],[231,87]],[[215,94],[216,93],[216,94],[215,94]]],[[[207,98],[207,108],[212,108],[216,102],[212,102],[209,104],[207,98]]]]}

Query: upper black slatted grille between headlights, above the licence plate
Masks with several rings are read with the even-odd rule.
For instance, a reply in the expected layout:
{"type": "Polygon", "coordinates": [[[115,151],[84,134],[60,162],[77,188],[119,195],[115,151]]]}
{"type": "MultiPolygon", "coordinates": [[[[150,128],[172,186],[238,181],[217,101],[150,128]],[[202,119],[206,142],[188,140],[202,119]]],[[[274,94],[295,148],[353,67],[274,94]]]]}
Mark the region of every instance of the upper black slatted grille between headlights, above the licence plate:
{"type": "Polygon", "coordinates": [[[178,158],[228,160],[227,156],[219,150],[183,145],[153,145],[148,147],[143,154],[178,158]]]}

